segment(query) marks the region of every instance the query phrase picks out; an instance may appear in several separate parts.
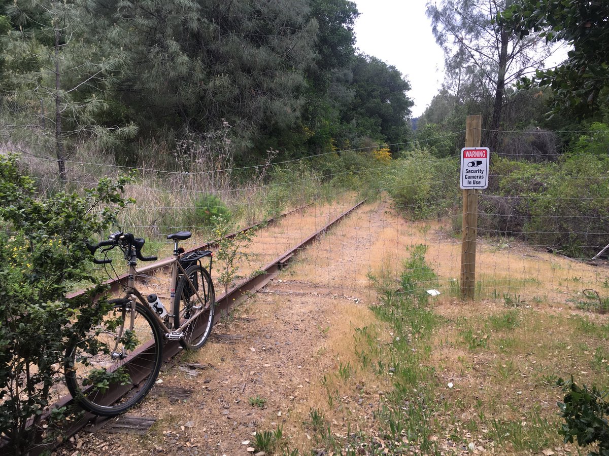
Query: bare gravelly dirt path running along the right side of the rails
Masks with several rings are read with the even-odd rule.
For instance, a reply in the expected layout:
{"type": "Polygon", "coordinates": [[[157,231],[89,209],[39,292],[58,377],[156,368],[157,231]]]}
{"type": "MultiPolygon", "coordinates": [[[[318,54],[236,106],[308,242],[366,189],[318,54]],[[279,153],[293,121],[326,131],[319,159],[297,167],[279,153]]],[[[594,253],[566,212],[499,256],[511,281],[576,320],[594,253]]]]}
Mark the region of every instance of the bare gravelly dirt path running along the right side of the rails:
{"type": "MultiPolygon", "coordinates": [[[[280,278],[218,323],[202,350],[185,353],[179,361],[205,368],[161,373],[162,383],[128,413],[157,419],[146,434],[112,434],[106,426],[95,435],[82,432],[77,447],[65,446],[60,453],[247,454],[254,432],[278,425],[291,447],[312,446],[300,424],[311,408],[328,407],[320,379],[348,358],[353,326],[371,320],[370,255],[364,252],[396,223],[385,206],[368,204],[326,233],[280,278]]],[[[273,230],[281,233],[286,227],[273,230]]],[[[353,409],[355,427],[365,426],[377,407],[376,386],[372,390],[362,388],[359,397],[343,401],[353,409]],[[370,400],[362,400],[366,397],[370,400]]],[[[338,423],[333,431],[346,434],[347,424],[338,423]]]]}

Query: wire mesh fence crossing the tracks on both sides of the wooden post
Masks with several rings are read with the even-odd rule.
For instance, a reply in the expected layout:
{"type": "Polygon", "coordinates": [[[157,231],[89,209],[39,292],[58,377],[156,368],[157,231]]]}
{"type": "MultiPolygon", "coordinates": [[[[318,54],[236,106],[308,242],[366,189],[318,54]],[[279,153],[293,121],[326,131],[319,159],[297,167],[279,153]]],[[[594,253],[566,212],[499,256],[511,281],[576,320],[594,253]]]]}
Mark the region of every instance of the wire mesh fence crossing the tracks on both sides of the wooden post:
{"type": "MultiPolygon", "coordinates": [[[[594,141],[590,132],[559,133],[588,134],[588,141],[594,141]]],[[[546,131],[501,135],[503,143],[522,147],[517,154],[506,153],[508,147],[496,154],[491,162],[489,188],[479,198],[477,299],[495,299],[514,306],[560,306],[567,301],[583,305],[588,302],[582,294],[584,289],[594,289],[601,295],[609,292],[605,260],[589,261],[609,243],[609,167],[604,157],[576,151],[561,157],[545,154],[540,163],[533,158],[540,156],[533,148],[540,147],[535,141],[546,141],[546,131]],[[511,159],[514,157],[518,160],[511,159]]],[[[604,137],[604,132],[594,135],[604,137]]],[[[400,146],[424,149],[421,144],[424,141],[400,146]]],[[[136,168],[137,177],[127,187],[126,196],[137,202],[122,213],[119,224],[153,241],[148,246],[150,254],[163,249],[167,252],[170,247],[166,235],[180,229],[195,233],[186,248],[211,240],[213,223],[201,213],[230,208],[239,227],[313,202],[256,233],[245,247],[251,261],[241,266],[241,274],[247,275],[319,229],[356,201],[358,194],[365,193],[369,196],[367,204],[309,249],[298,267],[287,273],[286,280],[315,283],[326,292],[361,292],[370,302],[379,290],[415,292],[421,299],[459,299],[462,195],[458,157],[438,159],[433,154],[407,151],[398,159],[382,163],[370,159],[371,150],[333,151],[248,167],[217,167],[214,173],[136,168]],[[317,159],[334,160],[347,153],[366,154],[367,166],[308,168],[317,159]],[[258,173],[241,179],[239,184],[225,179],[242,170],[258,173]],[[220,181],[222,184],[216,185],[220,181]],[[209,194],[217,197],[217,204],[205,200],[209,194]],[[423,254],[421,249],[425,250],[423,254]],[[421,255],[434,274],[417,270],[418,263],[410,261],[421,255]],[[412,282],[424,285],[413,291],[409,289],[412,282]]],[[[67,162],[71,177],[62,182],[57,179],[53,159],[29,154],[25,162],[37,184],[51,192],[64,185],[91,187],[99,176],[127,170],[111,162],[72,159],[67,162]]]]}

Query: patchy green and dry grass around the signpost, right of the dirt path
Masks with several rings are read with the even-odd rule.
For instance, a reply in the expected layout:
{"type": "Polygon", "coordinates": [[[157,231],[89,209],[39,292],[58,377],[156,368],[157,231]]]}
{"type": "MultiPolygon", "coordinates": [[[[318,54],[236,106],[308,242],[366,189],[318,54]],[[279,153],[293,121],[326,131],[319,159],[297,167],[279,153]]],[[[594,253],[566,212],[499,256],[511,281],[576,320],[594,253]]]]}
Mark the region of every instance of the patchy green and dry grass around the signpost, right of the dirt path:
{"type": "MultiPolygon", "coordinates": [[[[358,212],[334,236],[346,237],[367,216],[358,212]]],[[[499,454],[538,453],[562,445],[555,379],[586,372],[580,375],[607,382],[609,325],[594,314],[560,312],[569,307],[565,289],[605,277],[556,257],[544,262],[512,257],[503,263],[483,246],[479,300],[455,303],[459,280],[449,277],[459,274],[457,261],[451,266],[458,256],[452,244],[430,245],[422,254],[413,246],[437,229],[435,223],[387,225],[382,242],[370,246],[365,266],[348,264],[345,275],[354,275],[360,290],[365,278],[374,279],[373,292],[362,294],[374,303],[374,315],[337,303],[336,317],[316,326],[323,350],[313,356],[333,361],[323,376],[311,379],[306,402],[290,412],[290,444],[301,454],[310,449],[354,454],[357,447],[380,454],[380,442],[389,454],[452,454],[470,451],[470,444],[499,454]],[[428,286],[440,289],[439,299],[423,293],[428,286]],[[544,311],[552,306],[556,313],[544,311]],[[371,394],[380,390],[378,397],[371,394]],[[376,406],[365,424],[358,423],[357,398],[376,406]],[[351,420],[356,430],[345,432],[339,423],[351,420]]],[[[340,284],[324,273],[331,255],[315,254],[326,249],[331,250],[329,241],[316,243],[314,260],[301,260],[289,271],[290,280],[340,284]]],[[[281,451],[287,454],[287,446],[281,451]]]]}

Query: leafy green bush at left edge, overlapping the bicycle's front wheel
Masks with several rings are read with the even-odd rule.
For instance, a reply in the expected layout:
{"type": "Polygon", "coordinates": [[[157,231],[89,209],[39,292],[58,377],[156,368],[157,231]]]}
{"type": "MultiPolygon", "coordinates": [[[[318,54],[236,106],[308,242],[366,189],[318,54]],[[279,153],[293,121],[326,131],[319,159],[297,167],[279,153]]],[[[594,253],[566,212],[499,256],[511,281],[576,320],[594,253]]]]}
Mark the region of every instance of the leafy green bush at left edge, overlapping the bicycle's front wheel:
{"type": "MultiPolygon", "coordinates": [[[[93,303],[105,287],[88,273],[85,240],[127,204],[121,192],[128,181],[102,179],[83,196],[44,199],[19,172],[16,156],[0,156],[0,434],[17,453],[34,443],[41,415],[56,399],[53,386],[71,340],[108,310],[105,300],[93,303]],[[74,283],[92,288],[68,299],[74,283]]],[[[100,389],[105,380],[91,379],[100,389]]],[[[55,411],[54,419],[71,412],[55,411]]]]}

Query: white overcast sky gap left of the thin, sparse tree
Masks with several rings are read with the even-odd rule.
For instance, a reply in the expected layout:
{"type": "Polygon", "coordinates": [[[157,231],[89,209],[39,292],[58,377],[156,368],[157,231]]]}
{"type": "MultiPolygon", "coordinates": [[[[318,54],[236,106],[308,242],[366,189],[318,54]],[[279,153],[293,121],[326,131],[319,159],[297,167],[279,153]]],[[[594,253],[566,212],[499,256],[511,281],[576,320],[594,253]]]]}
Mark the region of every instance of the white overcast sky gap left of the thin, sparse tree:
{"type": "Polygon", "coordinates": [[[410,81],[412,116],[423,114],[444,79],[444,55],[425,15],[426,0],[353,0],[356,47],[395,66],[410,81]]]}

